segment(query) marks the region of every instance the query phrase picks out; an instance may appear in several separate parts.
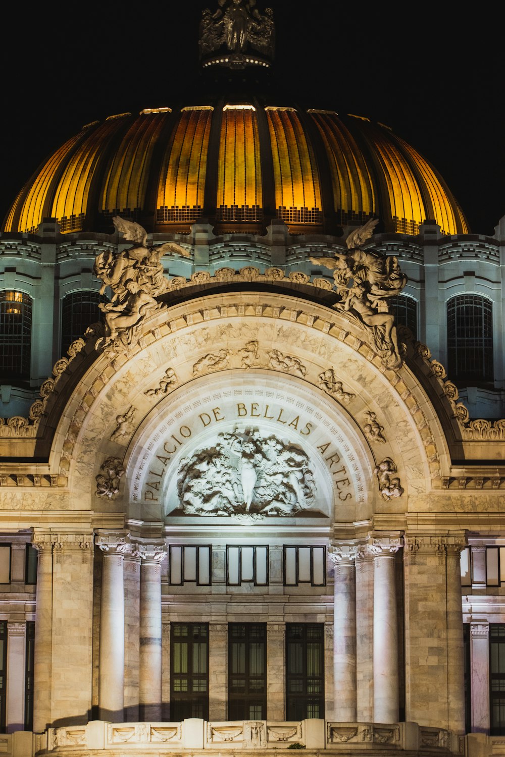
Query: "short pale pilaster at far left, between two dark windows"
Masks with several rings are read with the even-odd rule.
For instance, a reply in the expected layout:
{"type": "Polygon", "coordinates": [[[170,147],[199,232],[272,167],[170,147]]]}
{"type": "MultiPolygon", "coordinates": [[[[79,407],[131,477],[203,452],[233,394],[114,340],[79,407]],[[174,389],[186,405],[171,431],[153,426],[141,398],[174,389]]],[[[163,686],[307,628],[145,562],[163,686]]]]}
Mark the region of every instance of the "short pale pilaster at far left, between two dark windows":
{"type": "Polygon", "coordinates": [[[7,733],[24,731],[26,622],[7,623],[7,733]]]}

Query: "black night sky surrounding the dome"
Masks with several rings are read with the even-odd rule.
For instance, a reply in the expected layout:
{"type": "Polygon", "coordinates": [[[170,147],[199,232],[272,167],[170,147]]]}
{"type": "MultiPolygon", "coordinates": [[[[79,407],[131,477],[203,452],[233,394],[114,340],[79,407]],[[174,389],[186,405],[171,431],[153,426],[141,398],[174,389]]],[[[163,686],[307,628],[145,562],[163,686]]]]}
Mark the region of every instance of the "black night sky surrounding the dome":
{"type": "MultiPolygon", "coordinates": [[[[454,2],[270,5],[279,91],[391,126],[438,168],[472,232],[492,234],[505,214],[503,64],[492,14],[465,15],[454,2]]],[[[84,123],[181,98],[192,104],[207,6],[217,0],[54,3],[30,14],[14,6],[2,35],[2,217],[39,163],[84,123]]]]}

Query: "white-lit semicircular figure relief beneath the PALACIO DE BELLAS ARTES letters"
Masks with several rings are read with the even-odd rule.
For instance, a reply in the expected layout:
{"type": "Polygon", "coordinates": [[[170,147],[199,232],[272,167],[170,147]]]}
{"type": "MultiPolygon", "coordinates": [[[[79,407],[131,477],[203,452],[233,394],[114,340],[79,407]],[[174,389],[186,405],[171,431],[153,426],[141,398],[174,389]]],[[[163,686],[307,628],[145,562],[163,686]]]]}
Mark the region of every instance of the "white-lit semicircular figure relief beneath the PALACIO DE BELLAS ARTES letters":
{"type": "Polygon", "coordinates": [[[313,507],[316,483],[300,447],[235,428],[182,459],[177,493],[185,515],[295,516],[313,507]]]}

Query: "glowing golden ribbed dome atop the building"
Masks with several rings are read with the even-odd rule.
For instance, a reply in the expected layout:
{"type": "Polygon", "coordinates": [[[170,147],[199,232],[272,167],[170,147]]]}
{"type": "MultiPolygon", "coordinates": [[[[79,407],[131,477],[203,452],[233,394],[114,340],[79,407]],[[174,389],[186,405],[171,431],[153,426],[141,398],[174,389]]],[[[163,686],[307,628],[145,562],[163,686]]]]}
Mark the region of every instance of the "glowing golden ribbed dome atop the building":
{"type": "Polygon", "coordinates": [[[426,219],[468,231],[440,174],[380,123],[256,100],[155,108],[84,126],[33,174],[3,229],[111,231],[111,217],[152,232],[185,232],[199,217],[217,232],[332,233],[379,217],[415,235],[426,219]]]}

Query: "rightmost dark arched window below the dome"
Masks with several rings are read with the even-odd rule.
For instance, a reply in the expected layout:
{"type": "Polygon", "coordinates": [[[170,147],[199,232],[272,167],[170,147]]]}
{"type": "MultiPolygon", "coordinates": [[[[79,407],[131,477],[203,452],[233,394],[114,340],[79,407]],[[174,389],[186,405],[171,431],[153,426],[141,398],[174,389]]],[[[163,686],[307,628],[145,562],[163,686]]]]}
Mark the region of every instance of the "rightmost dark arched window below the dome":
{"type": "Polygon", "coordinates": [[[478,294],[447,302],[447,370],[453,381],[492,381],[493,306],[478,294]]]}

